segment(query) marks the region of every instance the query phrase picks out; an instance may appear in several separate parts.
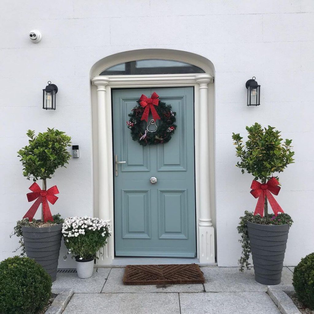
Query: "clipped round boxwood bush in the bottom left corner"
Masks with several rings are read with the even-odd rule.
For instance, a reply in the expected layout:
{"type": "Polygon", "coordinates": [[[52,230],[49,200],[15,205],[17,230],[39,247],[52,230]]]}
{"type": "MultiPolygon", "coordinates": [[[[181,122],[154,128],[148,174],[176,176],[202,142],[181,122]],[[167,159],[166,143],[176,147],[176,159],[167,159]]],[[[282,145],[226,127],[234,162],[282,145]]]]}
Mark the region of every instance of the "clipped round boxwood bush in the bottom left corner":
{"type": "Polygon", "coordinates": [[[36,314],[51,295],[51,277],[28,257],[9,257],[0,263],[0,313],[36,314]]]}

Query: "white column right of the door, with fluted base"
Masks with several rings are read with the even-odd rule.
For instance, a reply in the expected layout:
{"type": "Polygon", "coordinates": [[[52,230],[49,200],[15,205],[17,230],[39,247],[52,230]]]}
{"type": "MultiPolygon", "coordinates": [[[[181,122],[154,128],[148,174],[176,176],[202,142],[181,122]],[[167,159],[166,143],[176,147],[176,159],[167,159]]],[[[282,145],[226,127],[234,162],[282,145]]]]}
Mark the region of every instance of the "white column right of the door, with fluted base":
{"type": "Polygon", "coordinates": [[[214,227],[210,208],[210,164],[209,164],[209,118],[208,110],[208,83],[212,82],[209,74],[198,74],[196,82],[199,84],[199,261],[200,263],[215,263],[214,227]],[[206,187],[206,188],[204,188],[206,187]]]}

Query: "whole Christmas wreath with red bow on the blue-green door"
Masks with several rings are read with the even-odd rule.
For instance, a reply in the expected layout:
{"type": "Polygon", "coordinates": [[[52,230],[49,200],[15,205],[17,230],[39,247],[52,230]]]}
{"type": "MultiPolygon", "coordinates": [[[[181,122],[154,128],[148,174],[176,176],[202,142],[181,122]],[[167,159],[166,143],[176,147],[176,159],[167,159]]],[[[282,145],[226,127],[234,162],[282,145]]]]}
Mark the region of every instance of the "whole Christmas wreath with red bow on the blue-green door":
{"type": "Polygon", "coordinates": [[[142,95],[137,101],[138,106],[129,113],[127,127],[131,130],[133,141],[140,145],[167,143],[176,130],[176,112],[173,112],[171,106],[160,101],[158,97],[155,92],[150,98],[142,95]],[[149,111],[153,119],[148,122],[149,111]],[[158,125],[156,120],[160,120],[158,125]]]}

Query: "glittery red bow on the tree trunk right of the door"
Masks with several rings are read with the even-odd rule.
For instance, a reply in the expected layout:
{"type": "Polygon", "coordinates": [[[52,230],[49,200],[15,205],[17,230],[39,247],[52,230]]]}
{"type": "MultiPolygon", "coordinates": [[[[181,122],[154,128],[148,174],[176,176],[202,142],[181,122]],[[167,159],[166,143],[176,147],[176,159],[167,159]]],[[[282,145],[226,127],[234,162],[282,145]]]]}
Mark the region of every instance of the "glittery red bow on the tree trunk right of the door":
{"type": "Polygon", "coordinates": [[[279,212],[283,213],[284,211],[274,199],[272,192],[274,195],[278,195],[280,191],[280,187],[278,186],[279,182],[275,177],[272,177],[268,180],[266,184],[262,184],[256,180],[253,180],[250,192],[255,198],[258,198],[254,215],[260,214],[261,217],[264,215],[264,202],[265,197],[268,198],[270,206],[273,208],[273,212],[275,216],[278,215],[279,212]]]}

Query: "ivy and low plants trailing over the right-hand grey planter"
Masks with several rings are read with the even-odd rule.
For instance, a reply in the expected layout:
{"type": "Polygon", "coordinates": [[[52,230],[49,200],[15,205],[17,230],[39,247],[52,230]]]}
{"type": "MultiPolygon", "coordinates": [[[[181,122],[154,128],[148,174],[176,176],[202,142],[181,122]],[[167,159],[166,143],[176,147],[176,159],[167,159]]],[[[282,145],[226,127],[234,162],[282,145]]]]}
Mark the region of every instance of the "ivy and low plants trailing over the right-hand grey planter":
{"type": "Polygon", "coordinates": [[[274,214],[268,214],[267,216],[261,217],[260,215],[255,215],[252,212],[245,211],[244,216],[240,217],[240,222],[237,227],[238,232],[241,235],[239,242],[242,247],[242,255],[239,259],[240,271],[243,272],[244,268],[247,270],[251,269],[251,264],[249,263],[249,257],[251,254],[249,235],[247,233],[246,223],[250,221],[259,225],[292,225],[293,220],[290,215],[282,213],[277,216],[274,214]]]}

